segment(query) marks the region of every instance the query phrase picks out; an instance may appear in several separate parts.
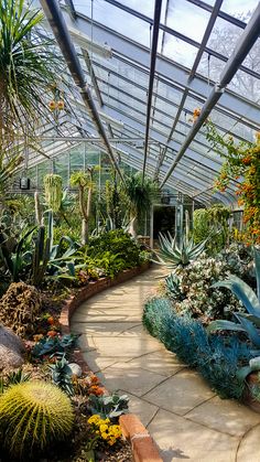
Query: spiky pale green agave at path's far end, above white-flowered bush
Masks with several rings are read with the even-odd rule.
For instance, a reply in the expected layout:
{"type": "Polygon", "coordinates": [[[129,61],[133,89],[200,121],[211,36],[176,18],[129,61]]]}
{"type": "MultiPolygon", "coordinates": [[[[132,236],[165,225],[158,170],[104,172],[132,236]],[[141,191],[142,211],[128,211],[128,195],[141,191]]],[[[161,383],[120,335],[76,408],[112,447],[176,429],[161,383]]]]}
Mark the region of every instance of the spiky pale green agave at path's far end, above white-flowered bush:
{"type": "Polygon", "coordinates": [[[170,233],[167,235],[159,234],[160,250],[155,253],[160,265],[167,268],[175,269],[178,265],[186,266],[191,261],[199,257],[205,250],[208,238],[202,243],[194,245],[193,239],[187,237],[181,239],[180,245],[176,243],[176,236],[173,237],[170,233]]]}

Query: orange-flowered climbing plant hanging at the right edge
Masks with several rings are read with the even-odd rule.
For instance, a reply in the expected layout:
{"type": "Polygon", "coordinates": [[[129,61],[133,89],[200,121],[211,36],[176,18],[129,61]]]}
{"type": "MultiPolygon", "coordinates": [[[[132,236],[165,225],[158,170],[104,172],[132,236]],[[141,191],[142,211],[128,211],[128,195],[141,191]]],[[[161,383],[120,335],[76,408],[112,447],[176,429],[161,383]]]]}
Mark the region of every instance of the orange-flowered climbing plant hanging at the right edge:
{"type": "Polygon", "coordinates": [[[231,180],[237,181],[236,194],[238,205],[243,206],[247,243],[260,244],[260,132],[256,133],[256,142],[235,143],[232,137],[223,138],[207,122],[207,139],[225,158],[216,189],[224,192],[231,180]]]}

